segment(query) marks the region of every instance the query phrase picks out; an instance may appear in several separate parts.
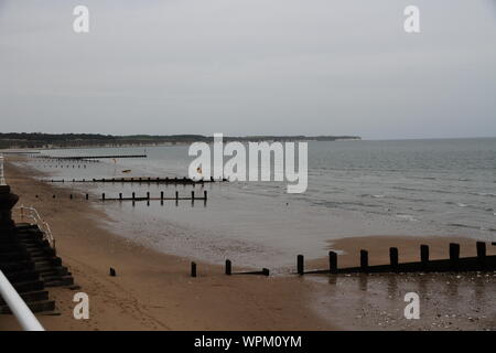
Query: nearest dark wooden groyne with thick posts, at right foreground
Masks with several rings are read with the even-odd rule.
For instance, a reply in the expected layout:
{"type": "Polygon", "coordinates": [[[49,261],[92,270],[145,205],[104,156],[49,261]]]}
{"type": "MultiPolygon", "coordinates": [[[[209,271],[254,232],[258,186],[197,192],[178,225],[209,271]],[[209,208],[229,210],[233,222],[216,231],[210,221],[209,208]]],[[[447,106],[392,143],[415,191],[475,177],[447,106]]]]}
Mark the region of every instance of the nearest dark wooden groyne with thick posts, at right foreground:
{"type": "Polygon", "coordinates": [[[399,263],[398,248],[389,248],[389,264],[387,265],[368,265],[368,252],[360,250],[360,266],[338,268],[337,254],[328,253],[328,268],[317,270],[304,270],[304,257],[296,257],[298,275],[315,275],[315,274],[379,274],[379,272],[459,272],[459,271],[494,271],[496,270],[496,255],[486,255],[486,243],[476,243],[477,256],[460,257],[460,244],[451,243],[448,259],[429,259],[429,246],[420,246],[420,261],[399,263]]]}

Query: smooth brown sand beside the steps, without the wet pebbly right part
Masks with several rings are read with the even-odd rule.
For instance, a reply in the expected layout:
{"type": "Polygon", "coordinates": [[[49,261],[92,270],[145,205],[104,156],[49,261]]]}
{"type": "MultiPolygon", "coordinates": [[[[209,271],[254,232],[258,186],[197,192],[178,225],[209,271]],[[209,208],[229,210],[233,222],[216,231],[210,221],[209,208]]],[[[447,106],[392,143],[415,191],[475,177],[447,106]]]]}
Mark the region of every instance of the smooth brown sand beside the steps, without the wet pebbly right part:
{"type": "MultiPolygon", "coordinates": [[[[34,173],[6,163],[18,206],[34,206],[50,224],[57,253],[80,286],[75,291],[50,289],[61,314],[39,317],[47,330],[337,329],[306,306],[315,284],[298,277],[228,277],[220,266],[205,263],[198,263],[198,277],[191,278],[187,259],[104,229],[96,221],[106,217],[103,212],[83,200],[69,201],[64,188],[56,189],[61,197],[53,200],[55,188],[29,176],[34,173]],[[117,277],[108,275],[109,267],[117,277]],[[73,319],[77,291],[89,296],[89,320],[73,319]]],[[[19,329],[11,315],[0,315],[0,328],[19,329]]]]}

